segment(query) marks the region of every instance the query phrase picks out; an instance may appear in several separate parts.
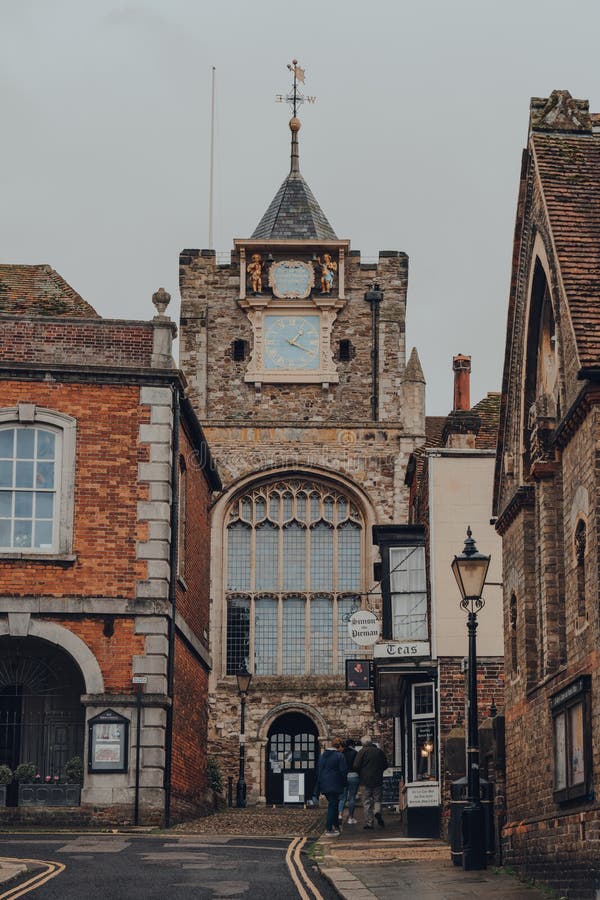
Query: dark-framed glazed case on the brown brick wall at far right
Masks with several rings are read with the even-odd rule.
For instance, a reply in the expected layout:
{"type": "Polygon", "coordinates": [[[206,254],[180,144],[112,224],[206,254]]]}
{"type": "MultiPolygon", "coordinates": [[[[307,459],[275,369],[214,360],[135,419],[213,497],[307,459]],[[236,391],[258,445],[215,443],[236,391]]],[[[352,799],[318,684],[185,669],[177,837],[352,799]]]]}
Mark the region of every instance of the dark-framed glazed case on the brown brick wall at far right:
{"type": "Polygon", "coordinates": [[[550,699],[553,720],[554,799],[584,798],[591,789],[590,677],[584,675],[550,699]]]}

